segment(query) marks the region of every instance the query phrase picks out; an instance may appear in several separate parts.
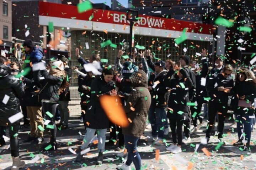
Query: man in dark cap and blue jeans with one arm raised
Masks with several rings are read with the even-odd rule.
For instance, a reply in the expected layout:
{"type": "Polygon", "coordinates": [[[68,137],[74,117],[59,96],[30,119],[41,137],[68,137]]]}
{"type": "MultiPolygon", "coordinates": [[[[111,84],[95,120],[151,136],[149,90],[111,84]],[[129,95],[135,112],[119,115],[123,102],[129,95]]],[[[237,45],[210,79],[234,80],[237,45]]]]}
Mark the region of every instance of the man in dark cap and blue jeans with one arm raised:
{"type": "Polygon", "coordinates": [[[163,82],[167,71],[164,61],[152,62],[150,50],[146,51],[146,58],[148,60],[148,66],[155,72],[154,76],[149,79],[148,86],[152,97],[151,106],[149,108],[149,121],[152,128],[152,136],[148,141],[154,140],[155,145],[161,145],[163,143],[164,127],[167,120],[165,111],[167,107],[165,98],[167,89],[163,82]]]}

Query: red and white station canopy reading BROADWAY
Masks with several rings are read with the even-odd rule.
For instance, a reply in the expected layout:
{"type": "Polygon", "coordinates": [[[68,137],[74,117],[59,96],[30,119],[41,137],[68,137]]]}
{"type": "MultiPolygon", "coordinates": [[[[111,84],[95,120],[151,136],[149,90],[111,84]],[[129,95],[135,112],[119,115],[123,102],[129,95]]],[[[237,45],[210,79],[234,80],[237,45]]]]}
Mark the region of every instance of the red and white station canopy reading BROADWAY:
{"type": "MultiPolygon", "coordinates": [[[[126,20],[124,12],[92,9],[78,13],[76,6],[39,1],[39,24],[48,26],[49,22],[63,30],[129,34],[129,21],[126,20]]],[[[189,40],[213,40],[214,27],[211,24],[139,15],[134,26],[134,33],[137,35],[178,38],[187,28],[186,35],[189,40]]]]}

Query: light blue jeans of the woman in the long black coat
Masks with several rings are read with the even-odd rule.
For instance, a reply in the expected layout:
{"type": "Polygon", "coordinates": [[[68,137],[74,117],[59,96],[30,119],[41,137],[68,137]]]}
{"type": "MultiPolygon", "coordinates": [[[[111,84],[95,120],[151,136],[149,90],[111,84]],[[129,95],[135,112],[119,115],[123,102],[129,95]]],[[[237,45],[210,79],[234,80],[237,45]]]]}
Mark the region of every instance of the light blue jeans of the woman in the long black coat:
{"type": "Polygon", "coordinates": [[[97,136],[98,136],[98,152],[104,152],[105,151],[105,141],[106,141],[106,133],[107,133],[107,129],[91,129],[91,128],[86,128],[86,134],[84,137],[84,143],[81,146],[81,149],[84,150],[86,149],[92,138],[94,138],[94,134],[95,131],[97,132],[97,136]]]}

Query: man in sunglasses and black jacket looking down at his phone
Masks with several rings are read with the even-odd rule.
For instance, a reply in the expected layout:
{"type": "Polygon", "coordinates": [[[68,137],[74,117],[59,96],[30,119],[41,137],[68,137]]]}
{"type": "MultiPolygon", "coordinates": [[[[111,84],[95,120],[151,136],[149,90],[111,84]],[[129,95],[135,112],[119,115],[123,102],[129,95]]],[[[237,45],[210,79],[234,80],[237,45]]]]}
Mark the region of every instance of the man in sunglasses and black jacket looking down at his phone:
{"type": "Polygon", "coordinates": [[[209,120],[206,131],[207,141],[210,140],[215,116],[218,113],[218,138],[222,141],[224,121],[228,112],[228,96],[232,96],[234,81],[231,78],[233,67],[226,65],[220,74],[214,74],[207,82],[209,92],[209,120]]]}

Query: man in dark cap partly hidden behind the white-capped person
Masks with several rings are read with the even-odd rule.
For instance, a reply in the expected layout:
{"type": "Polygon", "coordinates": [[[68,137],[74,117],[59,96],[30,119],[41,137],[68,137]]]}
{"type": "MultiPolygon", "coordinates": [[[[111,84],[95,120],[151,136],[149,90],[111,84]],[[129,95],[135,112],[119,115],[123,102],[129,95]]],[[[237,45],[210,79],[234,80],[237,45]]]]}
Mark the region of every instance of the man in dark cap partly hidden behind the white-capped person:
{"type": "MultiPolygon", "coordinates": [[[[60,61],[63,62],[64,70],[67,74],[67,80],[70,83],[71,76],[72,76],[72,69],[68,66],[68,58],[62,57],[60,58],[60,61]]],[[[64,91],[60,92],[59,95],[59,105],[57,106],[60,111],[60,123],[56,125],[57,127],[61,126],[61,129],[67,129],[68,128],[68,120],[69,120],[69,109],[68,109],[68,103],[70,101],[70,91],[69,86],[65,88],[64,91]]]]}

